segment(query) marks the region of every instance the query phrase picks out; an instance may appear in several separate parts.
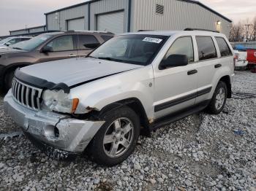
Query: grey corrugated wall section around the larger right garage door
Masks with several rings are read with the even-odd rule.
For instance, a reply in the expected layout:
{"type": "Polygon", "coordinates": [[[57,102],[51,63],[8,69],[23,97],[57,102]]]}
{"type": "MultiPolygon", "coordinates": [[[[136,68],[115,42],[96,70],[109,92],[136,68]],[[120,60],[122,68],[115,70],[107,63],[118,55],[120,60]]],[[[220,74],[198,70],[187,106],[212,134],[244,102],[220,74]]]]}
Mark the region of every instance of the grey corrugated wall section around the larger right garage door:
{"type": "Polygon", "coordinates": [[[128,1],[127,0],[102,0],[96,1],[91,5],[90,29],[97,30],[97,15],[107,12],[116,12],[124,9],[124,31],[127,31],[128,20],[128,1]]]}

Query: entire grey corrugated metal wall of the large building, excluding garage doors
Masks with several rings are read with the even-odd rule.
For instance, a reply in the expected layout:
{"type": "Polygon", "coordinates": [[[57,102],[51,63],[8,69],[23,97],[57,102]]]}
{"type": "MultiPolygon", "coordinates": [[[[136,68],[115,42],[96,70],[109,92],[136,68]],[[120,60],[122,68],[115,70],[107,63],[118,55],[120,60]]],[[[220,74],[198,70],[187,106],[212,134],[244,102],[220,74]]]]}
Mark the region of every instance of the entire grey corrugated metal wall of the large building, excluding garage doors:
{"type": "MultiPolygon", "coordinates": [[[[129,0],[101,0],[64,9],[47,15],[48,30],[67,30],[67,20],[78,17],[85,17],[85,30],[97,30],[97,15],[124,10],[124,31],[128,31],[128,8],[129,0]]],[[[178,0],[132,0],[130,29],[131,31],[183,30],[184,28],[217,30],[218,20],[221,21],[220,31],[229,36],[230,23],[198,4],[178,0]],[[156,4],[164,6],[164,15],[155,13],[156,4]]]]}

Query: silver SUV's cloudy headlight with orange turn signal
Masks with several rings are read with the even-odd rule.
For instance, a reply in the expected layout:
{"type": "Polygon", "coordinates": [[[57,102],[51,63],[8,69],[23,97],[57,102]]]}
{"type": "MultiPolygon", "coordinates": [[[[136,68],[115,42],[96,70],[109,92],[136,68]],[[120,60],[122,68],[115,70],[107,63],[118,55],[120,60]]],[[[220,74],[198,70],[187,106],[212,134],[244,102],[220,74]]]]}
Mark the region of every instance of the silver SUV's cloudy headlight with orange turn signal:
{"type": "Polygon", "coordinates": [[[48,109],[69,114],[75,112],[79,102],[78,98],[69,98],[69,94],[64,93],[64,90],[45,90],[42,100],[48,109]]]}

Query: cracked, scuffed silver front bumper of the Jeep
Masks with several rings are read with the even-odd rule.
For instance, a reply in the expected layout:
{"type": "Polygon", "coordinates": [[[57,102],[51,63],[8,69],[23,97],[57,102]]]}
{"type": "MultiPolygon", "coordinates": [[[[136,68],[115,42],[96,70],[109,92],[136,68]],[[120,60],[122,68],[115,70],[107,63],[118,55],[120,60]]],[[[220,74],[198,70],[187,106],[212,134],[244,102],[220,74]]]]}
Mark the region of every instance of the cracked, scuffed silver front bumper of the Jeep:
{"type": "Polygon", "coordinates": [[[104,124],[104,121],[77,120],[65,114],[28,109],[14,100],[11,91],[4,97],[4,111],[31,141],[56,151],[83,152],[104,124]]]}

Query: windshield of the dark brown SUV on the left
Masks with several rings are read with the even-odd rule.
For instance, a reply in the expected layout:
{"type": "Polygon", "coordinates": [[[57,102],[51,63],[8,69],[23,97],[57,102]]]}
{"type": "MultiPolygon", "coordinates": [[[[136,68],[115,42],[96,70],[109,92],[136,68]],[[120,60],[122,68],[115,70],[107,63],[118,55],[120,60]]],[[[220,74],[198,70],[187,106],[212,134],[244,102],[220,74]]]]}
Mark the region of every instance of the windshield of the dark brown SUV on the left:
{"type": "Polygon", "coordinates": [[[50,39],[53,34],[40,34],[32,39],[24,41],[23,43],[17,43],[12,46],[14,49],[31,51],[38,47],[40,44],[50,39]]]}

